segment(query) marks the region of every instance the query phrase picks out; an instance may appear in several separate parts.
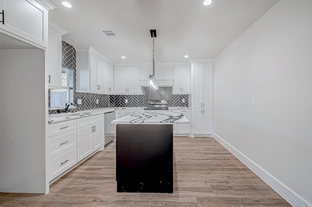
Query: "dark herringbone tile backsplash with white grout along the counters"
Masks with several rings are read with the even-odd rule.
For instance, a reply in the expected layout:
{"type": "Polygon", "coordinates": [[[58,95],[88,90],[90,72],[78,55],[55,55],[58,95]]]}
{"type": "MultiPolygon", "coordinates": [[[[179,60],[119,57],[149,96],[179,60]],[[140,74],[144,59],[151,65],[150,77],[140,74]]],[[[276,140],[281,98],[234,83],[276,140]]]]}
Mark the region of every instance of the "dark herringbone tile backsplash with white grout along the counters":
{"type": "MultiPolygon", "coordinates": [[[[143,95],[78,93],[76,92],[76,50],[72,45],[64,41],[62,41],[62,66],[74,70],[74,105],[78,111],[104,107],[144,107],[147,100],[152,99],[169,100],[169,106],[188,106],[189,103],[189,95],[173,95],[172,87],[159,87],[159,90],[144,87],[143,95]],[[78,105],[78,99],[82,100],[81,105],[78,105]],[[97,99],[98,104],[96,103],[97,99]],[[125,99],[128,99],[127,104],[125,99]],[[182,103],[182,99],[185,99],[185,103],[182,103]]],[[[63,109],[49,110],[49,114],[62,112],[64,112],[63,109]]]]}

